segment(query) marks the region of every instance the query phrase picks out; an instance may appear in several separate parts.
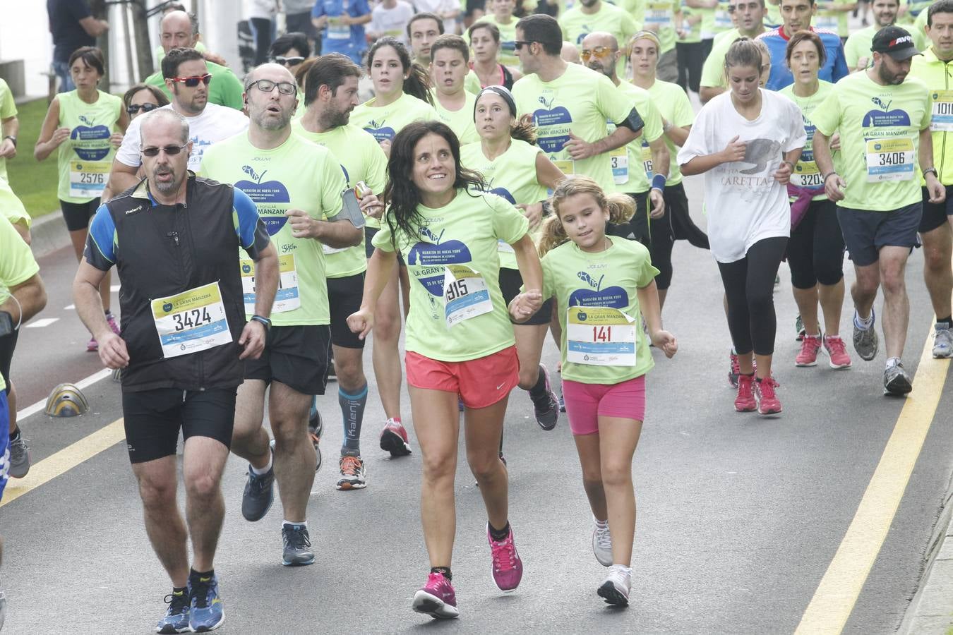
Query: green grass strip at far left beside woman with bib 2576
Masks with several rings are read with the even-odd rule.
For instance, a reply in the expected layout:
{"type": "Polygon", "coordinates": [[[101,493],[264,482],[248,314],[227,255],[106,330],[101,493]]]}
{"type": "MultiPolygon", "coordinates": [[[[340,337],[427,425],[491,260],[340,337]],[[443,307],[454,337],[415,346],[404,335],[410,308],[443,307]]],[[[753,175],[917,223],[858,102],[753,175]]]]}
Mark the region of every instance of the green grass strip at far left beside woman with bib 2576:
{"type": "Polygon", "coordinates": [[[20,134],[16,138],[16,158],[7,161],[10,187],[23,201],[30,216],[38,218],[59,211],[56,198],[56,152],[42,163],[33,158],[33,146],[47,114],[47,100],[37,99],[17,106],[20,134]]]}

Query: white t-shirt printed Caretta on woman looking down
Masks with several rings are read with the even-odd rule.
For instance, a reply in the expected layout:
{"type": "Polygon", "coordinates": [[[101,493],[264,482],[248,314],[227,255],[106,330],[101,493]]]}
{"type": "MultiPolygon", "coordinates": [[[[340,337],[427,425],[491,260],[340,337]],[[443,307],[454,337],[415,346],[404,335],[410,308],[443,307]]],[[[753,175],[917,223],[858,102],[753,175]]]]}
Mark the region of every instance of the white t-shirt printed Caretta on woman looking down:
{"type": "Polygon", "coordinates": [[[747,144],[744,160],[705,172],[705,209],[712,255],[720,263],[744,258],[765,238],[791,235],[787,188],[775,181],[784,153],[807,139],[801,109],[787,97],[760,90],[761,111],[748,121],[735,109],[731,92],[712,99],[695,117],[679,150],[679,166],[725,149],[735,136],[747,144]]]}

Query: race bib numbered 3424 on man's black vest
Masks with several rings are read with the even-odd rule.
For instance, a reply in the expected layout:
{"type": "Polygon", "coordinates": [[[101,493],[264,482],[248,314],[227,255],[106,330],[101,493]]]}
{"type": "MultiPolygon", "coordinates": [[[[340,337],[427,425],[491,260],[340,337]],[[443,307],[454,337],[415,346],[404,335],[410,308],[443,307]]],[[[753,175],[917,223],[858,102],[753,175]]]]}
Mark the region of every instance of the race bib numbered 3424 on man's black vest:
{"type": "Polygon", "coordinates": [[[152,300],[152,320],[166,359],[232,342],[217,282],[152,300]]]}

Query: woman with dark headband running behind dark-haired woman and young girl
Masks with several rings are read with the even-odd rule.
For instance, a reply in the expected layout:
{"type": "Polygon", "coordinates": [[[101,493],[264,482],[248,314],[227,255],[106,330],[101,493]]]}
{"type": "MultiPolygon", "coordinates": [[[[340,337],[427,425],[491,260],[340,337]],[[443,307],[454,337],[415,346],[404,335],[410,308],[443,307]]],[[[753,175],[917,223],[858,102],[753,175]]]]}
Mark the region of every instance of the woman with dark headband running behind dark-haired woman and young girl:
{"type": "MultiPolygon", "coordinates": [[[[480,90],[474,110],[480,140],[460,148],[464,168],[483,175],[490,191],[522,209],[529,221],[530,235],[537,240],[542,221],[546,190],[556,189],[564,177],[533,144],[535,131],[526,123],[517,123],[517,105],[513,94],[502,87],[480,90]]],[[[499,243],[499,290],[507,305],[523,284],[517,257],[507,243],[499,243]]],[[[546,330],[552,319],[553,303],[543,304],[535,315],[513,325],[517,339],[519,387],[529,392],[537,424],[544,430],[556,427],[559,402],[550,385],[549,371],[539,363],[546,330]]]]}

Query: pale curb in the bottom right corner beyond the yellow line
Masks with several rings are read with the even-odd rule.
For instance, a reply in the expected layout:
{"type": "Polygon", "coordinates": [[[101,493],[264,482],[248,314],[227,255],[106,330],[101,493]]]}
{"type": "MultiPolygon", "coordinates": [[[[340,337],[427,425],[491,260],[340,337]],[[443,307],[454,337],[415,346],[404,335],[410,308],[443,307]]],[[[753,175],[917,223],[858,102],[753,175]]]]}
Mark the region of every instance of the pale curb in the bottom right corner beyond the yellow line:
{"type": "Polygon", "coordinates": [[[923,583],[897,629],[899,635],[947,635],[953,630],[953,483],[943,496],[940,517],[927,545],[923,583]]]}

